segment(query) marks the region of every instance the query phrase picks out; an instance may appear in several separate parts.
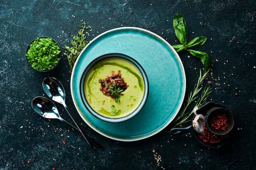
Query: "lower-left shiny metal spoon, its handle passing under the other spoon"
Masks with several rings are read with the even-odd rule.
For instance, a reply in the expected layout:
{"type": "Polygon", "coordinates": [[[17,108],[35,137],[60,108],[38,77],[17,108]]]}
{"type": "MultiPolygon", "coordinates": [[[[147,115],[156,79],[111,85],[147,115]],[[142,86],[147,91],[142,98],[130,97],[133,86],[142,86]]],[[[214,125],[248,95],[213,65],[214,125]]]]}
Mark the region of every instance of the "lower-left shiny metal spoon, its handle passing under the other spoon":
{"type": "Polygon", "coordinates": [[[31,105],[36,113],[38,113],[43,118],[61,120],[79,131],[79,129],[77,129],[75,126],[61,118],[60,114],[58,113],[58,109],[56,108],[56,105],[51,100],[48,100],[45,97],[38,96],[32,100],[31,105]]]}

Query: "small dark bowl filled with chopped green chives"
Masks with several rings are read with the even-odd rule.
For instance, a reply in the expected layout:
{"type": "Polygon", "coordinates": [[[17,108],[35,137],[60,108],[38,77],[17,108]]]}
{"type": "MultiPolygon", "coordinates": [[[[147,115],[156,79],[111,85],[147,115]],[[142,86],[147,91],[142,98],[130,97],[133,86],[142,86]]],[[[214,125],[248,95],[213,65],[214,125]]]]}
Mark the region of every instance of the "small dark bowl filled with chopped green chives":
{"type": "Polygon", "coordinates": [[[58,65],[61,47],[50,37],[37,37],[29,44],[25,56],[34,70],[47,72],[58,65]]]}

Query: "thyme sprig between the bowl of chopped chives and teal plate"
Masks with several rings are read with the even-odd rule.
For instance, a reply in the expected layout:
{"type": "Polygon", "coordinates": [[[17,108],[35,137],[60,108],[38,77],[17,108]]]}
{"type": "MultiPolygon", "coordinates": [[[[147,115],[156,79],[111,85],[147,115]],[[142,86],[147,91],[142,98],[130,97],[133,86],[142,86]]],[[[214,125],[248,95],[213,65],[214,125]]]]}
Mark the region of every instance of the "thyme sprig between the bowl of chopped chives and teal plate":
{"type": "Polygon", "coordinates": [[[85,29],[89,29],[89,26],[86,26],[86,23],[83,22],[83,26],[79,31],[76,36],[73,37],[73,39],[70,40],[70,44],[72,45],[71,47],[65,45],[63,48],[65,48],[68,52],[63,53],[67,59],[68,63],[70,65],[70,73],[73,70],[74,64],[76,62],[77,57],[79,56],[80,52],[85,48],[87,45],[87,42],[85,41],[86,36],[84,34],[85,29]]]}

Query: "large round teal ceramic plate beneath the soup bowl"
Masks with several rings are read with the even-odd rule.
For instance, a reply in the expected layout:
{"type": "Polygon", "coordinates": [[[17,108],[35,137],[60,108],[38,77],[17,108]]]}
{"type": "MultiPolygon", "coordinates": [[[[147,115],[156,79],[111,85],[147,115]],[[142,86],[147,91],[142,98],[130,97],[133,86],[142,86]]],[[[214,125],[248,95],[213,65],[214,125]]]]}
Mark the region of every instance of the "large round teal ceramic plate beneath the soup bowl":
{"type": "Polygon", "coordinates": [[[186,76],[180,57],[162,37],[142,28],[115,28],[94,38],[76,60],[71,76],[74,105],[88,126],[110,139],[137,141],[162,131],[177,115],[186,91],[186,76]],[[94,117],[81,98],[80,81],[85,68],[108,53],[126,54],[140,63],[149,82],[146,104],[124,122],[104,122],[94,117]]]}

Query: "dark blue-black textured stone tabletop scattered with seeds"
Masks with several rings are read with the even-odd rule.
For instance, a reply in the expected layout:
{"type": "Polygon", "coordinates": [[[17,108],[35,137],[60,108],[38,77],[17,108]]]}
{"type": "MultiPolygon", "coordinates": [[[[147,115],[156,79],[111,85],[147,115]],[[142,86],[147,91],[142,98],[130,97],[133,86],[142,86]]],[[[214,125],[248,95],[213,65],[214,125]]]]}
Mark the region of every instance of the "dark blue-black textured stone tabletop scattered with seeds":
{"type": "MultiPolygon", "coordinates": [[[[255,7],[255,0],[1,0],[0,169],[255,169],[255,7]],[[92,27],[88,41],[112,28],[135,26],[176,44],[175,12],[185,17],[189,40],[208,38],[196,48],[211,57],[208,81],[213,92],[207,101],[221,103],[235,115],[234,139],[221,150],[202,146],[190,134],[160,133],[139,142],[103,137],[76,112],[67,59],[63,56],[58,68],[43,73],[33,70],[25,58],[28,44],[38,36],[69,45],[80,20],[92,27]],[[31,100],[44,94],[41,83],[47,76],[63,83],[67,106],[104,150],[92,150],[78,132],[58,120],[40,118],[31,109],[31,100]]],[[[191,92],[202,63],[187,52],[180,58],[191,92]]],[[[57,107],[70,120],[63,106],[57,107]]]]}

